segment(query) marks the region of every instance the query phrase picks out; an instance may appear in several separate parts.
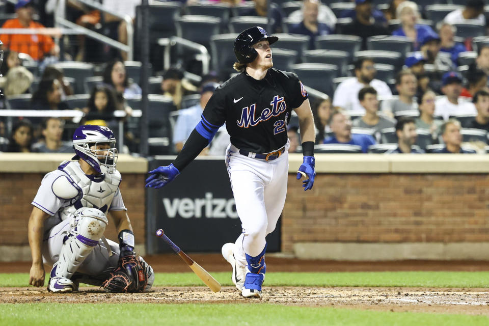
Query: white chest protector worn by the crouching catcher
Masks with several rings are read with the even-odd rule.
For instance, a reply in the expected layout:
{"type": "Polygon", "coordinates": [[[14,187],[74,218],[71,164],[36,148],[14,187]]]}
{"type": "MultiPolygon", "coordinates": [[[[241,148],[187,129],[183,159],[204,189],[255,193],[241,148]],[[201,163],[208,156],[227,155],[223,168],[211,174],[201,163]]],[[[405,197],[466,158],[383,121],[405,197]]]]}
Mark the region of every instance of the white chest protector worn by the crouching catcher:
{"type": "Polygon", "coordinates": [[[61,220],[71,218],[80,207],[94,207],[107,213],[121,182],[119,171],[116,170],[113,174],[105,173],[101,180],[91,180],[74,161],[65,161],[58,169],[68,174],[74,183],[73,186],[78,188],[77,198],[71,201],[70,206],[61,209],[61,220]]]}

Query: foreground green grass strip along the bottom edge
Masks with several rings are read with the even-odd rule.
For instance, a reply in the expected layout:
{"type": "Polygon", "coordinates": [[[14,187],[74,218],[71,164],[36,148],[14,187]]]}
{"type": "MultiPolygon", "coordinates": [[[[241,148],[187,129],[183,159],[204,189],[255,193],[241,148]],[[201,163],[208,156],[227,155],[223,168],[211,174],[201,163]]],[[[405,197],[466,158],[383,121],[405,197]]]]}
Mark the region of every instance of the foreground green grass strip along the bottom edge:
{"type": "Polygon", "coordinates": [[[271,304],[0,304],[17,325],[487,325],[485,316],[380,312],[271,304]]]}

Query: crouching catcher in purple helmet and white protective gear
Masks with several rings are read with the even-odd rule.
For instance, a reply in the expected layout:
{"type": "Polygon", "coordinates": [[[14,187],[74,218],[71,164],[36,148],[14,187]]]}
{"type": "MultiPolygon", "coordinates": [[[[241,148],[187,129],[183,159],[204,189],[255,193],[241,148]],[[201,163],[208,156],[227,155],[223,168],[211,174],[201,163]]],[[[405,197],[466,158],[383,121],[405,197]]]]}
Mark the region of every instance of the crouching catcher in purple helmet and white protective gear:
{"type": "Polygon", "coordinates": [[[153,269],[135,257],[134,234],[122,201],[111,129],[84,125],[75,130],[75,156],[44,176],[29,218],[32,267],[29,284],[44,284],[52,265],[50,292],[72,292],[78,283],[110,292],[149,290],[153,269]],[[119,243],[105,239],[110,213],[119,243]]]}

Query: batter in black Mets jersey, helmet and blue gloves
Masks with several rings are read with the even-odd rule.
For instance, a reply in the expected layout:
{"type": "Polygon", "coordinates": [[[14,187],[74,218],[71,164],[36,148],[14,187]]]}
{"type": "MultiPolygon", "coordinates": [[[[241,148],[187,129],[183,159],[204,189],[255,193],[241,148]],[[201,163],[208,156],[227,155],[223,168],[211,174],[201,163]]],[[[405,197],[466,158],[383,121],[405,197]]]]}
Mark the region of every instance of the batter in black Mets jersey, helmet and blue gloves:
{"type": "Polygon", "coordinates": [[[233,283],[244,297],[261,297],[265,274],[265,236],[274,231],[287,193],[287,123],[292,109],[300,121],[304,162],[297,179],[304,189],[314,183],[314,120],[308,94],[297,75],[273,69],[270,44],[278,41],[261,27],[247,29],[234,42],[240,73],[218,87],[202,119],[172,164],[159,167],[146,187],[172,181],[226,123],[231,144],[226,166],[241,220],[242,233],[222,252],[233,266],[233,283]]]}

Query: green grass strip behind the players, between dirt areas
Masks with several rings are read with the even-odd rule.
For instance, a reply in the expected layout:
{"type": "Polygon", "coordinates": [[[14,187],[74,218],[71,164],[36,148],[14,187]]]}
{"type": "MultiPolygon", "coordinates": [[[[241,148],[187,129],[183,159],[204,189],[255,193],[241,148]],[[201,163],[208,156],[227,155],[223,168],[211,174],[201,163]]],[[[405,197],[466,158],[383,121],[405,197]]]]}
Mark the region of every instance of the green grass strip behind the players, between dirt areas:
{"type": "MultiPolygon", "coordinates": [[[[231,273],[212,273],[231,286],[231,273]]],[[[46,276],[46,279],[48,276],[46,276]]],[[[0,274],[0,287],[29,286],[29,274],[0,274]]],[[[204,286],[190,273],[156,273],[154,286],[204,286]]],[[[267,273],[265,286],[489,287],[488,271],[383,271],[355,273],[267,273]]]]}

